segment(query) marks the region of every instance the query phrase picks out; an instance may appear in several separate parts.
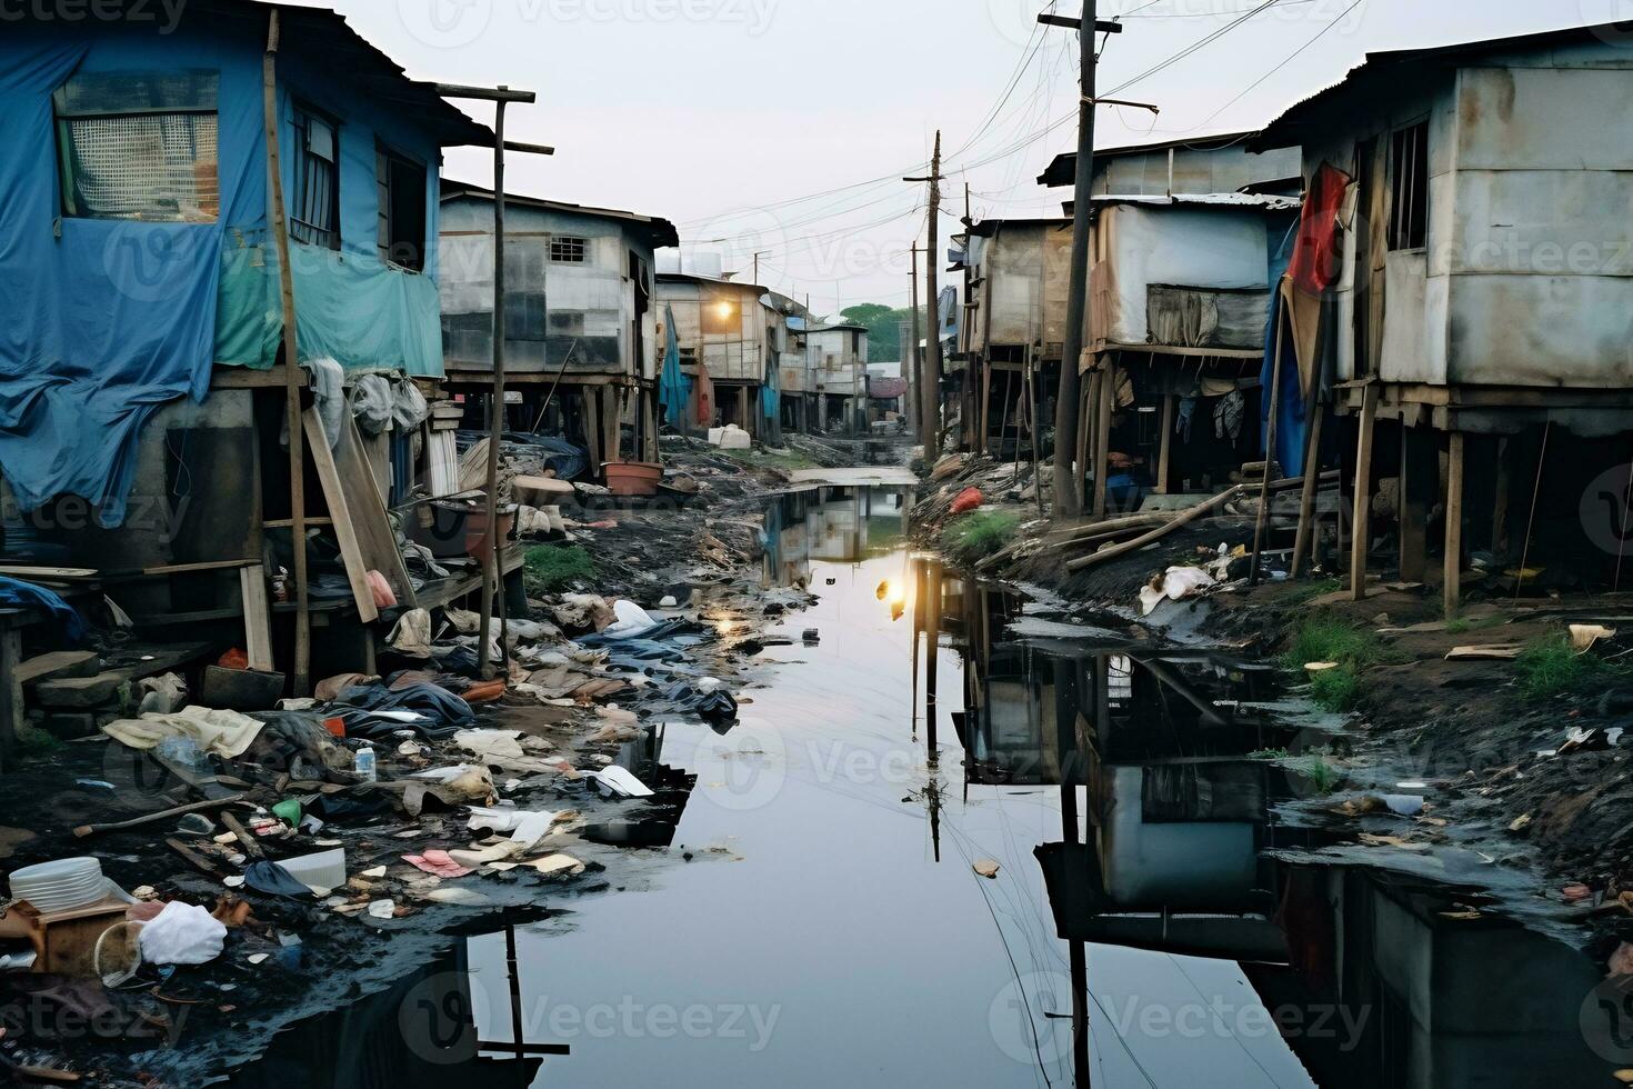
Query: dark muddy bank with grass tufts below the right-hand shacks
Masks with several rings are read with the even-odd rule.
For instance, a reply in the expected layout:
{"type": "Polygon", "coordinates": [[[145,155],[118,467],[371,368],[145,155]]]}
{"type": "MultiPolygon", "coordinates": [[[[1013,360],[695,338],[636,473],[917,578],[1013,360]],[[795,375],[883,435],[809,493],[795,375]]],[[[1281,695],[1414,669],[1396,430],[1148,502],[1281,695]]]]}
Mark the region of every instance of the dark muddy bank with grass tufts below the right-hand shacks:
{"type": "MultiPolygon", "coordinates": [[[[1029,472],[1016,478],[978,459],[957,470],[942,462],[942,473],[921,491],[914,513],[926,544],[941,542],[941,511],[970,485],[994,493],[983,509],[1012,513],[1021,537],[1042,536],[1029,472]]],[[[1427,816],[1403,821],[1408,839],[1455,841],[1481,864],[1502,867],[1504,880],[1524,875],[1535,906],[1586,924],[1576,927],[1584,942],[1633,940],[1633,669],[1622,665],[1633,661],[1623,658],[1633,653],[1633,594],[1515,598],[1512,581],[1465,581],[1465,607],[1448,627],[1437,585],[1393,583],[1386,571],[1365,601],[1350,601],[1339,593],[1347,557],[1344,563],[1329,557],[1297,580],[1253,589],[1231,585],[1138,617],[1137,593],[1153,575],[1210,558],[1221,544],[1251,547],[1253,529],[1246,518],[1210,518],[1079,573],[1068,571],[1066,560],[1083,549],[1040,549],[990,563],[980,575],[1042,588],[1172,642],[1264,658],[1287,655],[1311,620],[1354,627],[1365,635],[1372,660],[1357,669],[1341,733],[1311,740],[1306,749],[1336,772],[1324,789],[1334,808],[1357,793],[1421,793],[1427,816]],[[1568,691],[1528,691],[1512,660],[1447,660],[1457,647],[1561,638],[1569,624],[1604,624],[1620,633],[1589,651],[1600,661],[1568,691]],[[1571,741],[1584,733],[1581,745],[1571,741]]],[[[1302,663],[1282,665],[1295,686],[1306,679],[1302,663]]],[[[1293,691],[1308,694],[1308,687],[1293,691]]]]}

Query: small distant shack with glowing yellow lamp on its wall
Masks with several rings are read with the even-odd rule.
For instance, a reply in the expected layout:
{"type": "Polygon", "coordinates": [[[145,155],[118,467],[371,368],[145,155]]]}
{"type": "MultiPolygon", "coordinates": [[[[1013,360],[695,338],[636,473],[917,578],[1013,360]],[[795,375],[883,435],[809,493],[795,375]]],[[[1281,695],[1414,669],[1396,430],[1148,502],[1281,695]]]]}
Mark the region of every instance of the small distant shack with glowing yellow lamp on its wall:
{"type": "Polygon", "coordinates": [[[681,371],[692,379],[694,423],[735,423],[761,436],[764,389],[777,366],[777,327],[766,289],[694,273],[658,273],[658,320],[674,315],[681,371]]]}

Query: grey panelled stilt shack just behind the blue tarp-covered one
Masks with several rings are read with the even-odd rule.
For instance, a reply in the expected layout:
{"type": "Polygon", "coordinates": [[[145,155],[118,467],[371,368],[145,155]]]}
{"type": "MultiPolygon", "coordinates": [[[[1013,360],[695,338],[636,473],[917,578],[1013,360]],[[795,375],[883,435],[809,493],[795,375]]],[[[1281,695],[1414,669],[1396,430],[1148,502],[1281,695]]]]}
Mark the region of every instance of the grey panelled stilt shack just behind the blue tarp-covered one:
{"type": "MultiPolygon", "coordinates": [[[[665,219],[505,198],[505,379],[518,423],[590,451],[590,464],[658,459],[661,366],[653,251],[665,219]],[[554,392],[554,397],[552,397],[554,392]],[[622,441],[624,423],[634,439],[622,441]]],[[[493,384],[493,191],[443,183],[443,348],[454,389],[493,384]]]]}

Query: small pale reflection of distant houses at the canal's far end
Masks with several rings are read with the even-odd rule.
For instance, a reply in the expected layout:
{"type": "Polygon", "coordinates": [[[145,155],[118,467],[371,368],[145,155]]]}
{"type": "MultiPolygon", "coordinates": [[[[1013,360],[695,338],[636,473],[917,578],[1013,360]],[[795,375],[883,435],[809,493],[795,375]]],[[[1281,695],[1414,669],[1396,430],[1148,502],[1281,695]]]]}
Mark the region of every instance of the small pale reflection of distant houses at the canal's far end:
{"type": "Polygon", "coordinates": [[[810,578],[812,560],[854,563],[892,547],[908,527],[911,498],[901,488],[812,488],[790,491],[766,509],[766,570],[771,586],[810,578]]]}

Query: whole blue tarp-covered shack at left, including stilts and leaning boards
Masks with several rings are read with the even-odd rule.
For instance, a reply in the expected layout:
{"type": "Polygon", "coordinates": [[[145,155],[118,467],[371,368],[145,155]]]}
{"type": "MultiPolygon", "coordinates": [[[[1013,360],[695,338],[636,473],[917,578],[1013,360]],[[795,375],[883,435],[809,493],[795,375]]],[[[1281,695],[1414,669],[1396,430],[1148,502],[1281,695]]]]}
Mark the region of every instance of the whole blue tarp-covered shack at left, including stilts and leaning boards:
{"type": "MultiPolygon", "coordinates": [[[[8,562],[118,570],[108,596],[139,630],[198,620],[242,645],[251,612],[268,622],[261,565],[292,567],[304,488],[320,537],[361,527],[359,547],[331,542],[314,562],[314,581],[341,588],[333,607],[354,601],[372,620],[371,570],[413,601],[385,503],[420,472],[426,390],[412,380],[443,374],[441,149],[493,134],[333,11],[194,0],[173,20],[49,15],[13,13],[0,34],[8,562]],[[286,307],[310,377],[284,367],[286,307]],[[345,387],[363,376],[359,433],[345,387]],[[312,405],[296,428],[312,485],[281,442],[292,397],[312,405]],[[253,575],[220,596],[199,585],[234,568],[253,575]]],[[[248,638],[271,665],[271,633],[248,638]]]]}

